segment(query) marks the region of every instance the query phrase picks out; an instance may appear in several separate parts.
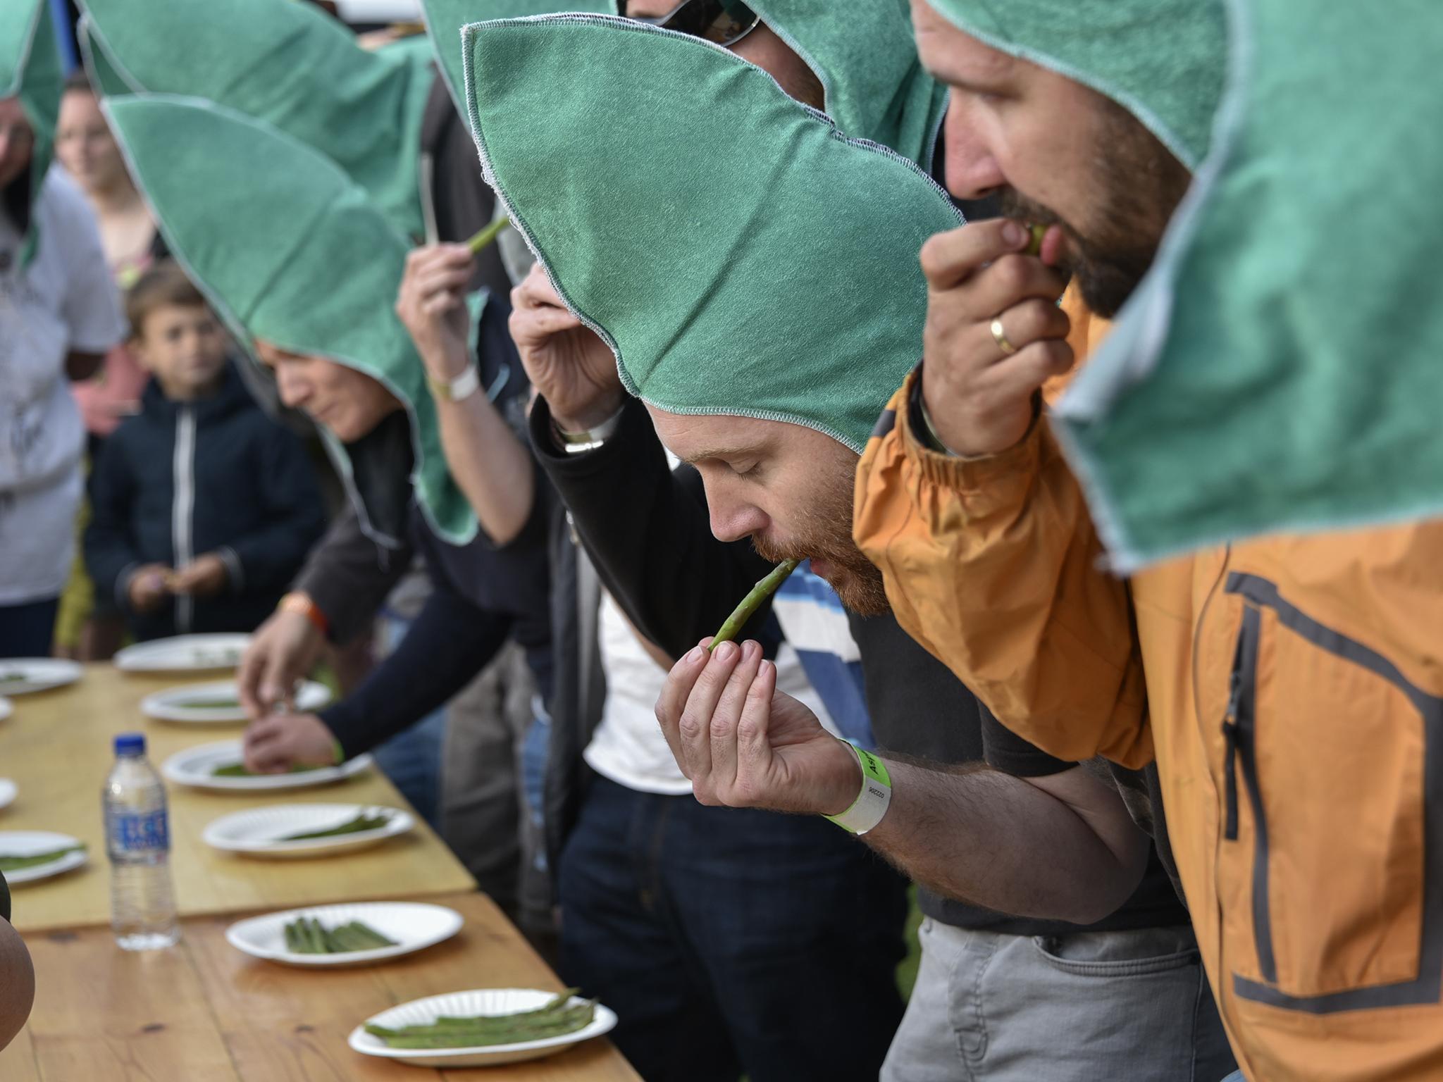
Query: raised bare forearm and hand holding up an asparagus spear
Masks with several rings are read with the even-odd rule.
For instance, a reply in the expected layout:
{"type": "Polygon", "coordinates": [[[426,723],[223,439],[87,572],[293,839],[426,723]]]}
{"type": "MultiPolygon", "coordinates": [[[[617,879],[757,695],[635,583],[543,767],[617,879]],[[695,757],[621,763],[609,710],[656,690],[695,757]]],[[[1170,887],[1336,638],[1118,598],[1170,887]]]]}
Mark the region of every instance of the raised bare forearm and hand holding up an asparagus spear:
{"type": "MultiPolygon", "coordinates": [[[[466,286],[475,258],[465,244],[413,248],[395,312],[416,343],[433,384],[450,385],[470,369],[466,286]]],[[[486,306],[482,320],[496,316],[486,306]]],[[[478,387],[459,400],[433,392],[442,450],[482,531],[496,545],[521,534],[534,506],[534,466],[525,446],[478,387]]]]}

